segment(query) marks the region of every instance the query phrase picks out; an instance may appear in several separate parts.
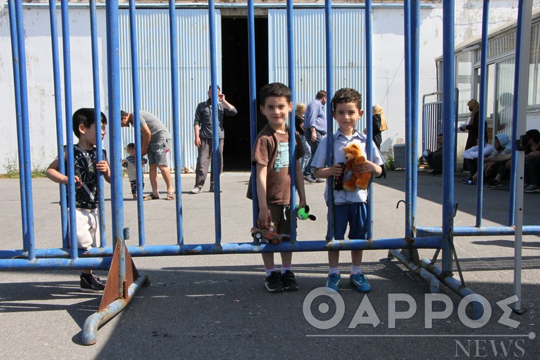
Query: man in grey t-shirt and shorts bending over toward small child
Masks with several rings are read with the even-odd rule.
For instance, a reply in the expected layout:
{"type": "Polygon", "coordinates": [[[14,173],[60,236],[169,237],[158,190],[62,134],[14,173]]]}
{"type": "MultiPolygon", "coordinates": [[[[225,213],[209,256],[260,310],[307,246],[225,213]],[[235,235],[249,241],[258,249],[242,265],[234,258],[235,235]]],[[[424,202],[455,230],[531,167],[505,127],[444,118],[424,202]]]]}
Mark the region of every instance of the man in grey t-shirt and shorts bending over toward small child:
{"type": "MultiPolygon", "coordinates": [[[[133,126],[133,114],[121,111],[122,127],[130,124],[133,126]]],[[[170,146],[172,136],[169,130],[161,123],[161,120],[148,111],[140,111],[141,118],[141,155],[148,154],[148,164],[150,165],[150,185],[152,193],[145,196],[145,200],[159,199],[157,188],[157,169],[161,171],[165,185],[167,186],[167,200],[174,200],[174,186],[170,179],[170,146]]]]}

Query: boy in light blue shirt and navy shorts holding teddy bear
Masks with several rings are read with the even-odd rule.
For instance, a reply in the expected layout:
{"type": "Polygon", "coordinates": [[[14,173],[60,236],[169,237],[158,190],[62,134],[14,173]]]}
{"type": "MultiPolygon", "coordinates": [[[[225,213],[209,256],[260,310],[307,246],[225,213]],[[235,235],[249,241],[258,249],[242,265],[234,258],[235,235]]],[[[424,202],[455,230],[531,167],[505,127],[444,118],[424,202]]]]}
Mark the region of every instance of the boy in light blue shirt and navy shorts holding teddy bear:
{"type": "MultiPolygon", "coordinates": [[[[359,118],[363,115],[362,96],[354,89],[339,89],[332,99],[332,116],[336,119],[339,129],[334,134],[334,163],[330,168],[327,167],[327,138],[323,138],[317,152],[312,160],[314,168],[314,177],[326,179],[329,177],[339,177],[343,168],[339,163],[345,163],[345,154],[343,147],[350,143],[360,145],[362,153],[366,154],[366,143],[372,146],[372,161],[367,161],[357,167],[358,172],[372,173],[373,177],[381,174],[381,165],[384,164],[381,152],[371,139],[366,139],[366,135],[356,129],[359,118]]],[[[343,181],[347,181],[351,173],[343,174],[343,181]]],[[[325,190],[325,199],[328,204],[328,194],[325,190]]],[[[345,230],[349,225],[349,239],[366,239],[367,237],[367,206],[368,191],[357,188],[349,192],[345,190],[334,190],[334,239],[345,239],[345,230]]],[[[330,225],[330,222],[329,222],[330,225]]],[[[330,229],[329,229],[330,230],[330,229]]],[[[330,235],[327,234],[327,241],[330,241],[330,235]]],[[[368,292],[371,287],[368,278],[361,271],[362,251],[352,250],[352,267],[350,275],[350,285],[361,292],[368,292]]],[[[339,251],[328,252],[328,262],[330,271],[326,281],[326,287],[339,291],[339,251]]]]}

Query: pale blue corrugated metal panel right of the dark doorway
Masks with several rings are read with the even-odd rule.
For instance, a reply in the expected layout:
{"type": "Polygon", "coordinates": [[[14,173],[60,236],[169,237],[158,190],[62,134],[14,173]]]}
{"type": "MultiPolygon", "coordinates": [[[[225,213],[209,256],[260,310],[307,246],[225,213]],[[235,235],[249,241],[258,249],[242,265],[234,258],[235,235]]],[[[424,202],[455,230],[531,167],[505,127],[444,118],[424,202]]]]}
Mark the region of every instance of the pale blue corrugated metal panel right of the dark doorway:
{"type": "MultiPolygon", "coordinates": [[[[287,12],[269,10],[269,82],[288,83],[287,12]]],[[[352,87],[366,93],[363,9],[332,10],[334,91],[352,87]]],[[[296,102],[309,102],[326,89],[325,10],[294,10],[296,102]]],[[[365,123],[359,122],[359,129],[365,123]]]]}

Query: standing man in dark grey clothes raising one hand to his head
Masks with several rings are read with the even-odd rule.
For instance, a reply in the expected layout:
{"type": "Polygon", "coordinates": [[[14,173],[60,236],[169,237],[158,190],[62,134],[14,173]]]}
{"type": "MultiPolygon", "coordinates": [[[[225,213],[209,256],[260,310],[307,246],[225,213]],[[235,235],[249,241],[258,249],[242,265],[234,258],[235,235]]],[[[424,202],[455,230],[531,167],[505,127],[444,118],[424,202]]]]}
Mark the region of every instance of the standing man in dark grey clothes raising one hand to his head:
{"type": "MultiPolygon", "coordinates": [[[[223,172],[223,140],[225,133],[223,130],[223,119],[225,115],[234,116],[238,113],[233,105],[225,100],[225,96],[219,93],[217,87],[217,121],[219,123],[219,174],[223,172]]],[[[208,166],[212,161],[212,87],[208,87],[208,100],[199,103],[195,110],[195,121],[193,122],[193,132],[195,132],[195,146],[199,152],[197,156],[197,168],[195,168],[195,188],[190,192],[199,194],[202,192],[208,166]]],[[[214,172],[210,173],[210,192],[214,192],[214,172]]]]}

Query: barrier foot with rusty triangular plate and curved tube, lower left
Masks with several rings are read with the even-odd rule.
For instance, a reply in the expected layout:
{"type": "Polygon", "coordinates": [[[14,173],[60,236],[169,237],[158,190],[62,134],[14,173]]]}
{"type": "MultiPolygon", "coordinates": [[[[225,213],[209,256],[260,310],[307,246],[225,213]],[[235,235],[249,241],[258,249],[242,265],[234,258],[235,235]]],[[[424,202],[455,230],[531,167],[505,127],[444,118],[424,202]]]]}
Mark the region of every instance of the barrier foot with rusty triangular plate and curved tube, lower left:
{"type": "Polygon", "coordinates": [[[81,336],[82,344],[95,344],[100,325],[106,323],[121,312],[129,304],[129,301],[132,300],[141,286],[149,284],[150,280],[148,280],[148,277],[138,273],[124,242],[117,241],[109,269],[109,276],[107,277],[107,283],[101,298],[100,309],[84,321],[81,336]],[[121,271],[123,270],[122,268],[125,270],[121,271]],[[135,281],[134,278],[136,278],[135,281]],[[122,284],[121,287],[119,286],[120,284],[122,284]]]}

